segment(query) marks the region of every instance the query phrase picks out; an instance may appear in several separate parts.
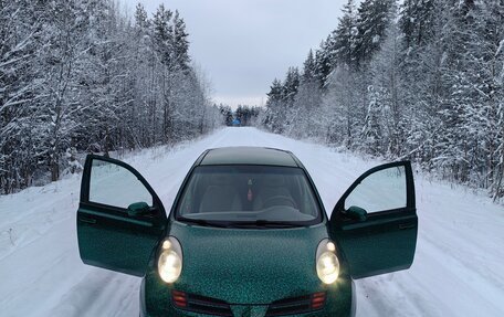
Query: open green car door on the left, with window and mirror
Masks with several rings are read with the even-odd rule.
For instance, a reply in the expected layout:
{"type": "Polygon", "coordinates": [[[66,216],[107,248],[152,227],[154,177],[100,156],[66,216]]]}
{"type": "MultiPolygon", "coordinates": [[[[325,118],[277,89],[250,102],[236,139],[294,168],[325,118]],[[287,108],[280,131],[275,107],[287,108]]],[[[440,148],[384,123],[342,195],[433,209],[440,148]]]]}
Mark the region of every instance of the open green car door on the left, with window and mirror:
{"type": "Polygon", "coordinates": [[[77,210],[85,264],[144,276],[165,226],[165,209],[140,173],[122,161],[87,156],[77,210]]]}

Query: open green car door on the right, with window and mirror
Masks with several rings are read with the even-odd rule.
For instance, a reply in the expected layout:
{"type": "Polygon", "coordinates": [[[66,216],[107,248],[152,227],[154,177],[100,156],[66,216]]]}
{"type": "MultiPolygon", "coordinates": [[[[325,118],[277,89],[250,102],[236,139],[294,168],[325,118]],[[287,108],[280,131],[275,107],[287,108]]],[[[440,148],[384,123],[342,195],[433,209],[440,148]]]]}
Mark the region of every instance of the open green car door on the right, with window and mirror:
{"type": "Polygon", "coordinates": [[[353,278],[409,268],[418,231],[410,162],[378,166],[360,176],[333,210],[330,231],[353,278]]]}

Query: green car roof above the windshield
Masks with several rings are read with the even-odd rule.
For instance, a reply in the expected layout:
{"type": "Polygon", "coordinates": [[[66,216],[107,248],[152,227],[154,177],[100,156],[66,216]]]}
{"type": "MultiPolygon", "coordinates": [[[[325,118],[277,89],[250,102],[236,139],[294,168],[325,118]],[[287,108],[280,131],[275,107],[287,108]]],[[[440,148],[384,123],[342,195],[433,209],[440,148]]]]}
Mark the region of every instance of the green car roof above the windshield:
{"type": "Polygon", "coordinates": [[[224,147],[209,149],[199,162],[209,165],[266,165],[300,167],[290,151],[264,147],[224,147]]]}

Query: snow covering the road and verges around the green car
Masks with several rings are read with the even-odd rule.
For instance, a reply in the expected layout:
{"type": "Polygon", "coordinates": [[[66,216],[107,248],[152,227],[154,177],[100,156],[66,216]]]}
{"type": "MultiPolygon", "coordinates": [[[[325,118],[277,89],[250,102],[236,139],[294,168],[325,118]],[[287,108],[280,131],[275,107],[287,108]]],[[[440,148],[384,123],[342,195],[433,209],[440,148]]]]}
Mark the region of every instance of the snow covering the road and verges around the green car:
{"type": "MultiPolygon", "coordinates": [[[[361,172],[380,163],[254,128],[225,128],[176,149],[128,155],[169,207],[207,148],[292,150],[330,213],[361,172]]],[[[84,265],[75,212],[80,176],[0,197],[2,316],[138,316],[140,278],[84,265]]],[[[409,271],[356,281],[357,316],[504,316],[504,208],[463,187],[416,176],[419,236],[409,271]]]]}

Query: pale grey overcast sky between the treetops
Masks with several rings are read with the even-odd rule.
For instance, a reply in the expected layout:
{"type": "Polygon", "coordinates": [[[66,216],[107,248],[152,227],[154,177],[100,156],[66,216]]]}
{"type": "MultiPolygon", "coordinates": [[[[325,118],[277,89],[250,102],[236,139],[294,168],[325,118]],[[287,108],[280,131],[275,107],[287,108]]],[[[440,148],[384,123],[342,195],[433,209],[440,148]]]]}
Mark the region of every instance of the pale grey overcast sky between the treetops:
{"type": "MultiPolygon", "coordinates": [[[[133,13],[138,1],[123,0],[133,13]]],[[[347,0],[140,0],[178,9],[190,55],[212,83],[217,103],[263,105],[271,82],[301,66],[338,23],[347,0]]],[[[151,17],[151,15],[150,15],[151,17]]]]}

